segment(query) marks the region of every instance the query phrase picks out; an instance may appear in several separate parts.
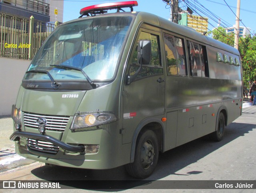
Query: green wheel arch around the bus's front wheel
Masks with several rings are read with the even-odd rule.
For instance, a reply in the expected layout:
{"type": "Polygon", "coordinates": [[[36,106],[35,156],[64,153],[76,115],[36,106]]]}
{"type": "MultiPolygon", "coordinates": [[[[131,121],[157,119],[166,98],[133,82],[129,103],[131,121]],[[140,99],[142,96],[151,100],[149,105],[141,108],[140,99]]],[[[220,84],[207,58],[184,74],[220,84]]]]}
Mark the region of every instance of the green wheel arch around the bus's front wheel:
{"type": "Polygon", "coordinates": [[[134,136],[132,138],[132,150],[131,150],[130,163],[133,163],[133,161],[134,161],[138,136],[144,130],[152,130],[156,134],[156,137],[158,140],[158,145],[160,147],[159,150],[160,151],[164,150],[164,139],[165,139],[164,138],[165,137],[164,128],[165,128],[164,124],[163,124],[162,120],[160,120],[159,118],[148,118],[148,119],[140,122],[140,124],[137,126],[137,128],[134,132],[134,136]]]}

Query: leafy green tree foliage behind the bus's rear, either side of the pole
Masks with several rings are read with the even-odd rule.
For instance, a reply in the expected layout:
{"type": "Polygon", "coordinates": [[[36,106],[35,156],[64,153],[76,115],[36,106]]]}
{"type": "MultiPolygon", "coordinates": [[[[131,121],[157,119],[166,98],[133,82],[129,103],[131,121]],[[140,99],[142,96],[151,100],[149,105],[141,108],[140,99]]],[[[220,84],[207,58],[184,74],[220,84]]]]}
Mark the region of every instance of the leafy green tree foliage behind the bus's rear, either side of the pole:
{"type": "MultiPolygon", "coordinates": [[[[234,46],[234,33],[226,33],[226,29],[218,27],[211,33],[213,39],[234,46]]],[[[256,80],[256,36],[240,37],[238,50],[241,56],[244,85],[256,80]]]]}

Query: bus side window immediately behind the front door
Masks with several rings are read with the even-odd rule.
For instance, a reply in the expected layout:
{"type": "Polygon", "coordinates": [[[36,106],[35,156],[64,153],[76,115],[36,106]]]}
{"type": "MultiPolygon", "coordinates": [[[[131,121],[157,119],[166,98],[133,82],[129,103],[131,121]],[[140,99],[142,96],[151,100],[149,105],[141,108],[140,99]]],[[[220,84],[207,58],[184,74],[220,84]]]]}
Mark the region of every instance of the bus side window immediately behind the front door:
{"type": "Polygon", "coordinates": [[[184,55],[184,40],[164,33],[164,47],[168,75],[188,75],[184,55]]]}

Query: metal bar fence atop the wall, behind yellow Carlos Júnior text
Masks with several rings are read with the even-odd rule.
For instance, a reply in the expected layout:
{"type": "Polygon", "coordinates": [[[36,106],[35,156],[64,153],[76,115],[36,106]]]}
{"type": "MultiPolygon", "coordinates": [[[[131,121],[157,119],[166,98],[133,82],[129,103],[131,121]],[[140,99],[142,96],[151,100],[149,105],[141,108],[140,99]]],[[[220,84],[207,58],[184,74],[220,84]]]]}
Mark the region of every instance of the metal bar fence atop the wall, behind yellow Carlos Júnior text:
{"type": "Polygon", "coordinates": [[[57,24],[0,13],[0,57],[32,59],[57,24]]]}

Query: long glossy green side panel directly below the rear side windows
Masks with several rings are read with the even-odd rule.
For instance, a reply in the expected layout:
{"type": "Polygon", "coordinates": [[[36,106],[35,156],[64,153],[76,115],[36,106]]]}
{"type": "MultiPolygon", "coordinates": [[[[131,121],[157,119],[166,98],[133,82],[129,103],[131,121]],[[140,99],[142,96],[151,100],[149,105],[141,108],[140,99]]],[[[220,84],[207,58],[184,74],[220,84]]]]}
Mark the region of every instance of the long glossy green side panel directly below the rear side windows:
{"type": "Polygon", "coordinates": [[[166,111],[240,98],[239,81],[200,77],[166,77],[166,111]]]}

